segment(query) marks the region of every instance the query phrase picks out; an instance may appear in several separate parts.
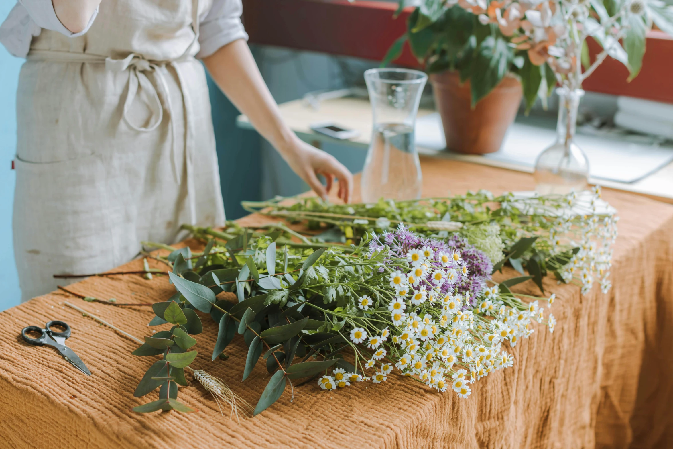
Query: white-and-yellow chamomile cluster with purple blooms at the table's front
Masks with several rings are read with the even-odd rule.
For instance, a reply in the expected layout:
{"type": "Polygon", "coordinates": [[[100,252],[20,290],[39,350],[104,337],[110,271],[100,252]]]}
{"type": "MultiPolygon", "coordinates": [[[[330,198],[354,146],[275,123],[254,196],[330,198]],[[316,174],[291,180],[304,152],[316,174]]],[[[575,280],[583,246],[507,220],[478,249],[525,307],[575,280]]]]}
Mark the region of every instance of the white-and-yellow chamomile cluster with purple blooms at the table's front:
{"type": "MultiPolygon", "coordinates": [[[[336,369],[318,380],[323,389],[356,380],[384,382],[396,370],[466,398],[476,380],[513,365],[508,349],[534,332],[533,322],[554,329],[556,321],[552,315],[544,318],[540,300],[526,304],[503,296],[490,279],[488,259],[464,240],[424,239],[400,226],[375,236],[369,248],[369,256],[388,254],[387,294],[378,310],[379,315],[389,314],[390,325],[382,330],[353,326],[348,339],[367,376],[336,369]]],[[[363,296],[358,300],[361,310],[363,302],[374,304],[363,296]]]]}

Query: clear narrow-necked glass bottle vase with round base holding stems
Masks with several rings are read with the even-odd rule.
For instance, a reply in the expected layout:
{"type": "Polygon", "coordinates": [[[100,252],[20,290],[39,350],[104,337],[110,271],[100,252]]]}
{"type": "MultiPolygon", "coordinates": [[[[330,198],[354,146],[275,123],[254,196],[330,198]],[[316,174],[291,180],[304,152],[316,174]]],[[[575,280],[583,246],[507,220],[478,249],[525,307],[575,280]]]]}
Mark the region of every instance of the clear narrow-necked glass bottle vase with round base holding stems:
{"type": "Polygon", "coordinates": [[[556,142],[542,151],[535,162],[535,190],[540,195],[579,192],[589,182],[589,160],[575,144],[577,108],[584,91],[558,88],[556,92],[559,94],[556,142]]]}

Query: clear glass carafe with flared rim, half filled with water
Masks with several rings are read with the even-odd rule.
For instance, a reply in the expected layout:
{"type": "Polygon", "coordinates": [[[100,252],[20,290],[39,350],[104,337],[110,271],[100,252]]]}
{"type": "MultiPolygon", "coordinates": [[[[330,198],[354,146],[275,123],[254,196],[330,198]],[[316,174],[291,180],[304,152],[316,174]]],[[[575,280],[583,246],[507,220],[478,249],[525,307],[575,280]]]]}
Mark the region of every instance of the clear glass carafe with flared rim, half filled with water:
{"type": "Polygon", "coordinates": [[[362,170],[362,201],[419,199],[423,175],[414,126],[427,75],[409,69],[371,69],[365,71],[365,81],[374,117],[362,170]]]}

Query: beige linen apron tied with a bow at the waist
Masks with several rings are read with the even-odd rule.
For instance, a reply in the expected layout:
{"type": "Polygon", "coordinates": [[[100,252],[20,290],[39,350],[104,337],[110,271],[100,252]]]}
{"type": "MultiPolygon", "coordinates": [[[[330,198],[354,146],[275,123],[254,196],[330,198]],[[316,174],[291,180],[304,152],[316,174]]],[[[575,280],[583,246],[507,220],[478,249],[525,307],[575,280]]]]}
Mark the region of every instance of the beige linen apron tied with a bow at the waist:
{"type": "Polygon", "coordinates": [[[104,0],[83,36],[42,30],[17,92],[14,252],[22,300],[57,273],[129,261],[180,225],[221,226],[199,51],[211,0],[104,0]]]}

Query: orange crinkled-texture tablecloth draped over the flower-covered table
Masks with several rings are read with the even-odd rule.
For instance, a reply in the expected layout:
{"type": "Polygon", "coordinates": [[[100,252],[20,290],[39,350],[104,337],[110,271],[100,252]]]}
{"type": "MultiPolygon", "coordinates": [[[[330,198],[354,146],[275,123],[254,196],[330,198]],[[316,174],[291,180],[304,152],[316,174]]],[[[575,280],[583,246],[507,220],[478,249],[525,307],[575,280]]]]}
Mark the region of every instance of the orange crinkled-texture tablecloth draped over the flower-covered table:
{"type": "MultiPolygon", "coordinates": [[[[422,160],[424,195],[468,188],[530,190],[532,177],[448,160],[422,160]]],[[[311,382],[289,388],[254,419],[221,417],[197,382],[178,399],[199,413],[133,413],[154,400],[133,390],[154,357],[135,357],[137,343],[64,300],[127,332],[149,334],[148,307],[83,302],[55,292],[0,314],[0,440],[11,448],[671,448],[673,447],[673,206],[616,191],[604,198],[619,212],[608,294],[598,287],[557,285],[555,333],[538,329],[513,349],[513,368],[474,386],[472,396],[439,394],[401,376],[324,392],[311,382]],[[71,347],[93,373],[74,370],[53,349],[27,345],[22,327],[69,322],[71,347]]],[[[246,223],[260,217],[246,217],[246,223]]],[[[152,266],[160,267],[158,263],[152,266]]],[[[141,269],[133,261],[124,269],[141,269]]],[[[530,282],[530,281],[529,281],[530,282]]],[[[118,302],[165,301],[166,277],[96,277],[69,287],[118,302]]],[[[536,291],[533,285],[522,289],[536,291]]],[[[237,336],[228,360],[211,363],[217,329],[203,316],[199,357],[192,366],[220,376],[254,405],[269,374],[260,363],[240,382],[246,347],[237,336]]],[[[166,325],[168,326],[168,325],[166,325]]],[[[157,328],[153,328],[157,329],[157,328]]]]}

